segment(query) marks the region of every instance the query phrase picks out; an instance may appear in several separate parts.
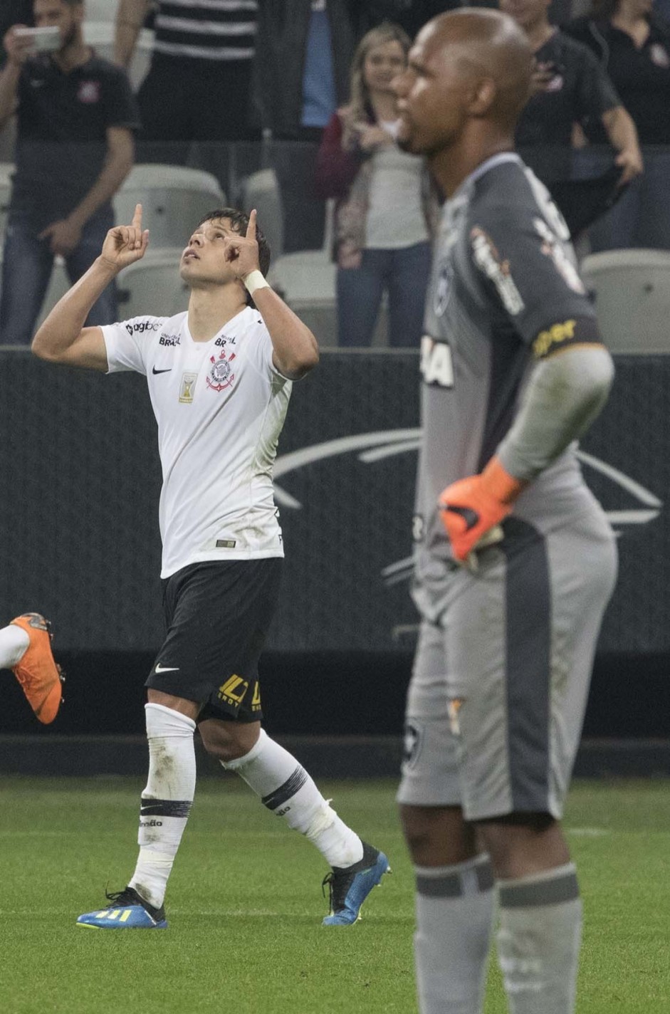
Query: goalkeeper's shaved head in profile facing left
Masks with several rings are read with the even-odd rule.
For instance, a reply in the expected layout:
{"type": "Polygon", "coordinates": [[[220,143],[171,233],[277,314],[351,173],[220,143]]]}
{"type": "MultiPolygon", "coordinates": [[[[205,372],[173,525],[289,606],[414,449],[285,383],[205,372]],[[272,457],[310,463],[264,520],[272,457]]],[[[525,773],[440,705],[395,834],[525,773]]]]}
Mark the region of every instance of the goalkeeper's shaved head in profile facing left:
{"type": "Polygon", "coordinates": [[[400,143],[438,161],[509,150],[531,66],[525,33],[499,11],[461,8],[433,18],[394,82],[400,143]]]}

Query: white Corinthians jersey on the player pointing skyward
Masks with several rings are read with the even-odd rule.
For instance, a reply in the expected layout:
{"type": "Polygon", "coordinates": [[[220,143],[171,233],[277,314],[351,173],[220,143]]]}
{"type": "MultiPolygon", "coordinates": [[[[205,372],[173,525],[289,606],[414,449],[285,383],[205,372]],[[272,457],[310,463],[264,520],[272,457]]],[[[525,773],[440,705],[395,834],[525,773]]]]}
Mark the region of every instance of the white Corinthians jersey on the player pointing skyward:
{"type": "Polygon", "coordinates": [[[257,310],[209,342],[194,342],[187,313],[101,330],[109,373],[146,376],[158,423],[161,577],[205,560],[283,557],[273,463],[292,384],[257,310]]]}

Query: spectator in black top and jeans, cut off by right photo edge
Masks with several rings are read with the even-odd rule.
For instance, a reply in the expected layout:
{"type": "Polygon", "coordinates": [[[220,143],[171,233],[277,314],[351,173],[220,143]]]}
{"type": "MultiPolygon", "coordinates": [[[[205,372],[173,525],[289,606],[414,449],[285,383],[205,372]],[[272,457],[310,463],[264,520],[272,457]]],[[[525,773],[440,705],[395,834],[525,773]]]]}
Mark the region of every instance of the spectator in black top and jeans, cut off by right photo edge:
{"type": "MultiPolygon", "coordinates": [[[[635,121],[645,158],[644,175],[591,229],[591,248],[670,248],[670,25],[654,14],[651,0],[599,0],[590,16],[566,30],[607,71],[635,121]]],[[[596,131],[589,136],[603,140],[596,131]]],[[[586,148],[576,172],[590,176],[602,164],[602,153],[586,148]]]]}

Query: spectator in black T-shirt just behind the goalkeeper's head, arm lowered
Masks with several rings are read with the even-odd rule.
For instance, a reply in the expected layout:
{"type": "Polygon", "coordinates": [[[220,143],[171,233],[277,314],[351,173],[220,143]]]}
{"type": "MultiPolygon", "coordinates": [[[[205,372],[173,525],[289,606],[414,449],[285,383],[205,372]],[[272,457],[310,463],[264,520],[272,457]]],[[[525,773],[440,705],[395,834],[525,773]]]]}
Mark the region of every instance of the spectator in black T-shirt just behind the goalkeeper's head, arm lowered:
{"type": "Polygon", "coordinates": [[[531,96],[516,132],[526,163],[549,189],[568,179],[573,127],[595,121],[617,152],[621,184],[635,178],[643,169],[635,124],[593,54],[549,24],[549,0],[500,0],[499,5],[526,32],[535,58],[531,96]]]}

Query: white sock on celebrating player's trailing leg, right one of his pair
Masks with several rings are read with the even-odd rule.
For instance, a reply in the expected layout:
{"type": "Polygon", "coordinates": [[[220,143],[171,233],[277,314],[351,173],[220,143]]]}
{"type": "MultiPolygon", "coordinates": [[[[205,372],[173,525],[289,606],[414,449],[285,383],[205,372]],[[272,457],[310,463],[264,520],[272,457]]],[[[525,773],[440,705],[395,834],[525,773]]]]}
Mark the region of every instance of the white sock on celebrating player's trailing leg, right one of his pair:
{"type": "Polygon", "coordinates": [[[236,772],[269,810],[315,845],[330,866],[352,866],[363,859],[358,835],[340,819],[304,768],[265,729],[248,753],[221,764],[236,772]]]}

